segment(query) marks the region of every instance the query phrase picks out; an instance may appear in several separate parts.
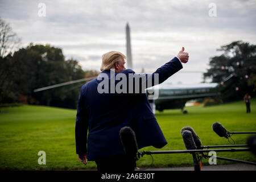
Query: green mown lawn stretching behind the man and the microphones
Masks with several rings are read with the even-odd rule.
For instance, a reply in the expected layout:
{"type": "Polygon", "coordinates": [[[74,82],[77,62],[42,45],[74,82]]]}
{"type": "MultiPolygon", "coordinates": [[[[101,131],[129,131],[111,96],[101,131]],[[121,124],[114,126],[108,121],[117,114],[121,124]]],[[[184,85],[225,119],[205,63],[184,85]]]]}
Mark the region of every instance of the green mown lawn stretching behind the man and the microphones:
{"type": "MultiPolygon", "coordinates": [[[[251,101],[251,114],[246,114],[245,104],[233,102],[218,106],[187,107],[188,114],[180,110],[156,113],[156,119],[168,144],[161,148],[145,147],[142,150],[185,150],[180,130],[191,126],[203,145],[229,144],[212,130],[213,122],[220,122],[229,131],[256,131],[256,100],[251,101]]],[[[0,169],[51,170],[92,169],[94,162],[84,166],[75,152],[76,110],[45,106],[19,106],[0,108],[0,169]],[[46,165],[38,164],[38,152],[46,152],[46,165]]],[[[245,144],[248,135],[233,135],[236,144],[245,144]]],[[[250,152],[219,152],[218,156],[256,162],[250,152]]],[[[153,155],[151,167],[192,166],[191,154],[153,155]]],[[[217,160],[217,164],[227,164],[217,160]]],[[[143,156],[138,167],[148,167],[150,156],[143,156]]],[[[208,159],[203,159],[208,164],[208,159]]]]}

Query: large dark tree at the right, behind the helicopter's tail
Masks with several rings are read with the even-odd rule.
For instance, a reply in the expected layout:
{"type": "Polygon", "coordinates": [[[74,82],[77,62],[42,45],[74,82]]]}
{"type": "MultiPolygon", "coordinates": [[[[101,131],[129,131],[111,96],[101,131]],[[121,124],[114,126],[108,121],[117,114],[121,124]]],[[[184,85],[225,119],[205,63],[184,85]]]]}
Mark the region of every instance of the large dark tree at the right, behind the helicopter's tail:
{"type": "MultiPolygon", "coordinates": [[[[222,93],[224,100],[240,99],[245,92],[255,91],[256,74],[256,45],[247,42],[236,41],[221,46],[217,51],[224,51],[221,56],[210,58],[210,68],[204,73],[204,78],[211,78],[212,82],[222,83],[230,75],[236,77],[236,81],[230,88],[222,93]]],[[[225,83],[224,83],[225,84],[225,83]]]]}

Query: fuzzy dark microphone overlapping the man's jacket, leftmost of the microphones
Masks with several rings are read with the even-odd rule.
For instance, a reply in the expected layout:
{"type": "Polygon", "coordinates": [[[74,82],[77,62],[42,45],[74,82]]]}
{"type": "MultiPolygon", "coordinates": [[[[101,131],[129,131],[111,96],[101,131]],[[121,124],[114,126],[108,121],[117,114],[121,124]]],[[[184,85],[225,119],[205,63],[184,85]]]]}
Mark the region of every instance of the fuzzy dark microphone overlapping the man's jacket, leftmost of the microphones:
{"type": "Polygon", "coordinates": [[[138,152],[138,144],[133,129],[128,126],[122,127],[119,131],[119,136],[125,153],[135,158],[138,152]]]}

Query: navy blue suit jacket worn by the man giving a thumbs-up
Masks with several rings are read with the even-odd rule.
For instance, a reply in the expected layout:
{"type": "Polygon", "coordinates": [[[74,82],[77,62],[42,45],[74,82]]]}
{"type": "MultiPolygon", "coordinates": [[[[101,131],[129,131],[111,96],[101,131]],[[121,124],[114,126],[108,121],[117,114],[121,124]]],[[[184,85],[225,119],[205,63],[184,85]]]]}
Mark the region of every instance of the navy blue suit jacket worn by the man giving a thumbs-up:
{"type": "MultiPolygon", "coordinates": [[[[183,67],[180,60],[174,57],[148,75],[154,76],[158,73],[160,84],[181,68],[183,67]]],[[[110,70],[102,73],[106,73],[110,78],[110,70]]],[[[127,76],[129,73],[135,74],[131,69],[119,73],[127,76]]],[[[97,92],[100,82],[94,78],[81,88],[75,128],[77,154],[87,152],[88,160],[123,154],[119,130],[124,126],[130,126],[134,130],[139,148],[162,148],[167,144],[145,93],[100,94],[97,92]]]]}

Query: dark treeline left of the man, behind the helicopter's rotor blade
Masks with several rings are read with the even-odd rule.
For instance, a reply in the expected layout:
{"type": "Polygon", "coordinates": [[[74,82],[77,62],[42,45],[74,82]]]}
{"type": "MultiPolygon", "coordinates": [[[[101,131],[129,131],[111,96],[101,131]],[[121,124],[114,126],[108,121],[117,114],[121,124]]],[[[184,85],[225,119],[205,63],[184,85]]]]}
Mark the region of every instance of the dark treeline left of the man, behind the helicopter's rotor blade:
{"type": "Polygon", "coordinates": [[[75,109],[80,88],[85,82],[41,92],[33,90],[97,76],[98,73],[83,71],[76,60],[65,60],[60,48],[31,43],[13,55],[0,57],[0,103],[21,102],[75,109]]]}

